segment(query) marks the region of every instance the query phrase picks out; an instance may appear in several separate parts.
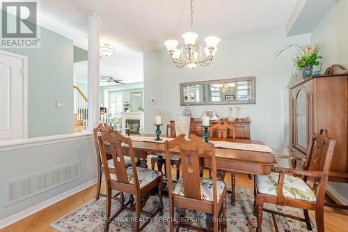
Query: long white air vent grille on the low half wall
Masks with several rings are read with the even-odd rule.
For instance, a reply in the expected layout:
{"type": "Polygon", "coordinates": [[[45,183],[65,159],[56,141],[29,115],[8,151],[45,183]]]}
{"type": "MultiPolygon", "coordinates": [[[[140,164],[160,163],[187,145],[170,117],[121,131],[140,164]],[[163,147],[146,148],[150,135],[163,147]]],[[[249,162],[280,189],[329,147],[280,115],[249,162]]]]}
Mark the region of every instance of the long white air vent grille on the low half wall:
{"type": "Polygon", "coordinates": [[[9,206],[79,178],[79,161],[3,183],[3,206],[9,206]]]}

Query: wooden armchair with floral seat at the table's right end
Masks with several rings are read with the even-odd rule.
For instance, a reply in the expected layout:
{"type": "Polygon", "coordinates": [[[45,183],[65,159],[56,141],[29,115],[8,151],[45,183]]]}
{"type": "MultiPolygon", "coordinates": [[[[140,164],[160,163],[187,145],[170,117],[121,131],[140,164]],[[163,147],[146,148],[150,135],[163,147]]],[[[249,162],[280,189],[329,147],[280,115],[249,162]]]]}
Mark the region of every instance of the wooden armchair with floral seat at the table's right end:
{"type": "Polygon", "coordinates": [[[329,139],[327,130],[320,130],[310,139],[303,170],[274,167],[270,175],[255,177],[256,231],[262,231],[262,210],[271,212],[276,231],[278,227],[274,214],[306,222],[308,230],[312,230],[308,210],[315,210],[317,231],[324,231],[324,197],[334,147],[335,140],[329,139]],[[299,175],[301,178],[292,175],[299,175]],[[302,208],[304,218],[263,209],[264,203],[302,208]]]}

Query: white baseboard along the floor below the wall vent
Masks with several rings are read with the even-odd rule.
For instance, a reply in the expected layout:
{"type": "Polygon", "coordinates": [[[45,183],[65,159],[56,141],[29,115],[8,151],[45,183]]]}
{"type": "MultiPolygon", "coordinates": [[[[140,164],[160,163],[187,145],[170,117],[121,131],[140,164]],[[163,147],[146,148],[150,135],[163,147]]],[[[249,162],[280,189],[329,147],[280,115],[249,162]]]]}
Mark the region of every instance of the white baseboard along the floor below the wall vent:
{"type": "Polygon", "coordinates": [[[3,229],[4,227],[9,226],[10,224],[17,222],[23,219],[24,217],[28,217],[29,215],[32,215],[35,212],[43,210],[44,208],[47,208],[48,206],[51,206],[54,203],[57,203],[58,201],[62,201],[63,199],[76,194],[77,192],[81,192],[82,190],[85,190],[86,188],[92,185],[95,185],[95,183],[97,183],[97,178],[90,180],[77,187],[74,187],[73,189],[68,190],[67,192],[63,192],[62,194],[54,196],[51,199],[48,199],[47,201],[38,203],[37,205],[32,206],[31,208],[27,208],[26,210],[23,210],[22,212],[17,212],[15,215],[2,219],[0,221],[0,229],[3,229]]]}

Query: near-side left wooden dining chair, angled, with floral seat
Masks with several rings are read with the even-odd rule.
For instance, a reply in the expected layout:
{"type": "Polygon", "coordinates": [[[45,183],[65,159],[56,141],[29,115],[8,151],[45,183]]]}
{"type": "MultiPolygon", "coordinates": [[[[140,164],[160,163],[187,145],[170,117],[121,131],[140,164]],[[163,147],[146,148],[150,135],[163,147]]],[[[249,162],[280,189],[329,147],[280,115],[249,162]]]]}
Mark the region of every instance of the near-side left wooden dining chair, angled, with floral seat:
{"type": "Polygon", "coordinates": [[[136,167],[134,159],[134,150],[132,146],[132,139],[124,137],[120,132],[104,133],[100,137],[100,143],[102,144],[102,160],[105,165],[105,180],[106,180],[106,211],[105,211],[105,226],[104,231],[109,230],[109,224],[117,217],[122,210],[132,210],[134,207],[135,197],[135,219],[134,219],[134,231],[143,231],[153,217],[157,215],[163,215],[163,201],[162,201],[162,182],[163,176],[159,171],[153,171],[151,169],[145,169],[142,167],[136,167]],[[132,165],[130,167],[125,166],[125,156],[122,144],[127,144],[128,153],[132,165]],[[109,146],[111,155],[113,157],[113,166],[115,169],[115,176],[111,177],[109,164],[107,162],[106,146],[109,146]],[[151,190],[158,187],[159,208],[155,212],[142,212],[141,196],[148,194],[151,190]],[[129,195],[129,200],[125,202],[123,199],[119,200],[121,207],[111,216],[111,191],[117,190],[119,192],[126,192],[129,195]],[[127,206],[130,205],[131,208],[127,206]],[[147,216],[147,220],[140,226],[140,215],[147,216]]]}

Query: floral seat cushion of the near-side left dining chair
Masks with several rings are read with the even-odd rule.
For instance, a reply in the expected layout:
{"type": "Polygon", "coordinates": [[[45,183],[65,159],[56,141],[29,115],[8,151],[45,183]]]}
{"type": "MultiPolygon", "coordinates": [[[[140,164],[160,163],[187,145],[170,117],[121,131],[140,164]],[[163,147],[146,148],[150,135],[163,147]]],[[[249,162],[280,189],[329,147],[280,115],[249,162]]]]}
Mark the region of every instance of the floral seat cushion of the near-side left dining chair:
{"type": "MultiPolygon", "coordinates": [[[[145,169],[142,167],[136,167],[136,171],[138,172],[138,180],[140,183],[140,188],[148,185],[162,174],[159,171],[155,171],[152,169],[145,169]]],[[[134,184],[134,176],[132,167],[127,167],[127,176],[129,184],[134,184]]],[[[117,180],[117,178],[113,178],[113,180],[117,180]]]]}

